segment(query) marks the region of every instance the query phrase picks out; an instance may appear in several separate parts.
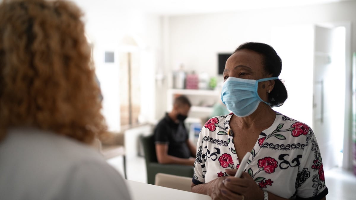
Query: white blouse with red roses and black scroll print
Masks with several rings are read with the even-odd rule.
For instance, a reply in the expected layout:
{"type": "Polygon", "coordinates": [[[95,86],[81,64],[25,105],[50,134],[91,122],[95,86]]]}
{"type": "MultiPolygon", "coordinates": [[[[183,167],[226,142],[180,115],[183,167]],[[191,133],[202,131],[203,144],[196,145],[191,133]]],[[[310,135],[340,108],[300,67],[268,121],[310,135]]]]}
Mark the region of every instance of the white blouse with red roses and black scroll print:
{"type": "MultiPolygon", "coordinates": [[[[213,117],[197,143],[193,183],[208,183],[239,168],[230,119],[213,117]]],[[[328,194],[323,163],[312,129],[276,112],[271,127],[260,133],[244,169],[263,190],[287,199],[322,199],[328,194]]]]}

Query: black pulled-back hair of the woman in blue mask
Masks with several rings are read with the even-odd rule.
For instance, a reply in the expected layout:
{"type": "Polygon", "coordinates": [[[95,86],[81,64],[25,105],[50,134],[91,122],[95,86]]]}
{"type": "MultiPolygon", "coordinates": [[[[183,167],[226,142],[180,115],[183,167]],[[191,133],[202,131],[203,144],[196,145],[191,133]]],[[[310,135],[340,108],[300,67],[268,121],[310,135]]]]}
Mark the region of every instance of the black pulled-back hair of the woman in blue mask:
{"type": "MultiPolygon", "coordinates": [[[[248,49],[262,55],[263,67],[267,74],[272,74],[272,77],[278,77],[282,71],[282,59],[278,56],[273,47],[265,43],[246,42],[236,48],[235,52],[248,49]]],[[[234,52],[234,53],[235,53],[234,52]]],[[[281,79],[274,80],[274,88],[268,94],[268,100],[271,107],[281,106],[288,98],[286,86],[284,86],[281,79]]]]}

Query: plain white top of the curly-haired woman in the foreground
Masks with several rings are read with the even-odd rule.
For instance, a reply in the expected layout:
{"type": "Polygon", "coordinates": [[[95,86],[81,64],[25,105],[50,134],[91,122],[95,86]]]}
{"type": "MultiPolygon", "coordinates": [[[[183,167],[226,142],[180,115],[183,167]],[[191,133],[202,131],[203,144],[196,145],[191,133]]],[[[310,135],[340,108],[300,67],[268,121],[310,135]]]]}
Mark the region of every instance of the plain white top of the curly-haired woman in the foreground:
{"type": "Polygon", "coordinates": [[[52,132],[9,130],[0,141],[0,172],[0,199],[130,199],[99,152],[52,132]]]}

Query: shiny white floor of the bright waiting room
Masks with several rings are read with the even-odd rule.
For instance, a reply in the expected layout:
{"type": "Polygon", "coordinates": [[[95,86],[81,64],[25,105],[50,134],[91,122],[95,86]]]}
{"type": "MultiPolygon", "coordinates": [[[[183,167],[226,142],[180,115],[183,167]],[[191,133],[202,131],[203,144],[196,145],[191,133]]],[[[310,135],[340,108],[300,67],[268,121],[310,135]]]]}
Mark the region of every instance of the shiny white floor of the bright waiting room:
{"type": "MultiPolygon", "coordinates": [[[[123,174],[122,157],[112,158],[108,163],[123,174]]],[[[127,179],[147,182],[145,159],[143,157],[126,158],[127,179]]],[[[341,168],[333,168],[325,171],[326,186],[329,194],[328,200],[355,200],[356,199],[356,176],[341,168]]]]}

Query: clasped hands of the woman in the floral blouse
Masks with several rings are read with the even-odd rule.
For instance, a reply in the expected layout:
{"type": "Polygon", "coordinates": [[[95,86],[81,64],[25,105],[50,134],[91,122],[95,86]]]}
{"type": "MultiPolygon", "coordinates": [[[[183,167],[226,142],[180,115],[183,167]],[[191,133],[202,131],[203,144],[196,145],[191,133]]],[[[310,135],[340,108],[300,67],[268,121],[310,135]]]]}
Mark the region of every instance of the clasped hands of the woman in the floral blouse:
{"type": "Polygon", "coordinates": [[[228,177],[219,177],[209,182],[209,195],[213,200],[262,200],[263,191],[251,178],[250,174],[244,172],[241,178],[235,178],[237,169],[226,169],[228,177]]]}

